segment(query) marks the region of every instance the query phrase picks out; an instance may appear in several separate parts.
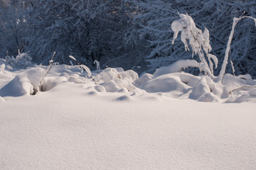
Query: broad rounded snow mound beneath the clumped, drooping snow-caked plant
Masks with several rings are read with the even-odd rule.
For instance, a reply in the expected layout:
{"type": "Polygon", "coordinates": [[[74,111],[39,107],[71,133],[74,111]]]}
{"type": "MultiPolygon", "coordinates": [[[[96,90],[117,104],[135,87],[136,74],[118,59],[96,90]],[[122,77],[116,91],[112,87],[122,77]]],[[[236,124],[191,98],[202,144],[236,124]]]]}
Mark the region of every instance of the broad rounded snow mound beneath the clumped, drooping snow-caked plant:
{"type": "Polygon", "coordinates": [[[166,93],[178,98],[188,96],[193,100],[218,102],[218,89],[209,77],[196,77],[185,72],[159,75],[139,86],[148,93],[166,93]]]}

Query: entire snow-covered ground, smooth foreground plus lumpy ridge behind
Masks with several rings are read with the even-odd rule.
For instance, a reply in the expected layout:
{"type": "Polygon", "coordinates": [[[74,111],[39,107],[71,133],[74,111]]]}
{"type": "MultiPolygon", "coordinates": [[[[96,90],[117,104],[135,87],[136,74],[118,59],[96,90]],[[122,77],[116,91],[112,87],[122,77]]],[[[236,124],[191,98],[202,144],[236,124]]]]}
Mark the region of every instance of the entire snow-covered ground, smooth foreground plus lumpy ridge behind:
{"type": "Polygon", "coordinates": [[[40,85],[46,67],[3,60],[0,169],[255,169],[256,81],[177,71],[107,68],[95,84],[53,65],[40,85]]]}

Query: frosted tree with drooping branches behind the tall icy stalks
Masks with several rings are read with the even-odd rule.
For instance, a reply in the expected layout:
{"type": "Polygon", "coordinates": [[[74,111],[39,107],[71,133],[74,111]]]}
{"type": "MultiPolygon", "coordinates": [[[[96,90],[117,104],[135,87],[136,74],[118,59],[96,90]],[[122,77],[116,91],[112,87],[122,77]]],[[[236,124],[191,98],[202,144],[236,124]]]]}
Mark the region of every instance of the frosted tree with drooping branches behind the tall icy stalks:
{"type": "MultiPolygon", "coordinates": [[[[173,32],[171,22],[178,18],[178,13],[188,13],[196,22],[198,28],[207,27],[210,32],[210,42],[213,55],[223,61],[225,47],[228,42],[233,18],[252,16],[255,18],[256,3],[254,1],[206,1],[206,0],[177,0],[177,1],[136,1],[139,6],[139,15],[135,17],[142,29],[140,33],[150,42],[151,52],[147,55],[149,72],[157,67],[169,65],[178,59],[188,59],[191,52],[183,50],[183,43],[177,41],[171,45],[173,32]],[[245,13],[244,13],[245,12],[245,13]]],[[[256,77],[256,30],[252,27],[253,21],[244,20],[238,23],[233,36],[230,56],[235,66],[236,74],[250,73],[256,77]]],[[[222,64],[219,62],[219,64],[222,64]]],[[[218,74],[220,67],[216,70],[218,74]]],[[[232,72],[228,64],[228,72],[232,72]]]]}

